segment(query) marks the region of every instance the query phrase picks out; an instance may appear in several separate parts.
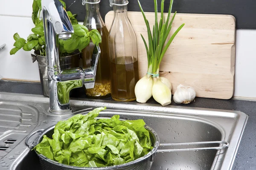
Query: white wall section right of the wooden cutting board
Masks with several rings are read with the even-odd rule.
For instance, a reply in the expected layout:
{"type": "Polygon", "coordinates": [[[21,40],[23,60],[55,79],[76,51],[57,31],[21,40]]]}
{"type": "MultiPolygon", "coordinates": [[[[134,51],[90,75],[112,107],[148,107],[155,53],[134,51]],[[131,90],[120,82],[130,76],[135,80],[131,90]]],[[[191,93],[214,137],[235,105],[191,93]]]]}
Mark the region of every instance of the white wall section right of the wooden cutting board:
{"type": "Polygon", "coordinates": [[[256,98],[256,30],[236,32],[235,96],[256,98]]]}

